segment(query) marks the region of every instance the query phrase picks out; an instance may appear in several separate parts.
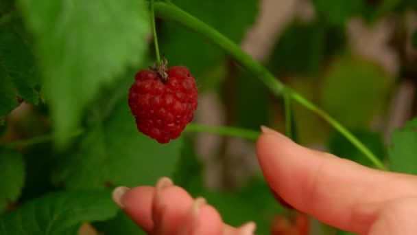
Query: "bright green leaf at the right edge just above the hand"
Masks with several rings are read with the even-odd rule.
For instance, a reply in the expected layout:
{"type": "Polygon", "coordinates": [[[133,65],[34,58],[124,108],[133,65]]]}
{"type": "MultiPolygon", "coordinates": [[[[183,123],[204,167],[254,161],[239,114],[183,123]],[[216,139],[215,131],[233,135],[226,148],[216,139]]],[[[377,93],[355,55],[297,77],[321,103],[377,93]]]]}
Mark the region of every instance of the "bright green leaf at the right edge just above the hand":
{"type": "Polygon", "coordinates": [[[391,134],[390,170],[417,175],[417,117],[391,134]]]}

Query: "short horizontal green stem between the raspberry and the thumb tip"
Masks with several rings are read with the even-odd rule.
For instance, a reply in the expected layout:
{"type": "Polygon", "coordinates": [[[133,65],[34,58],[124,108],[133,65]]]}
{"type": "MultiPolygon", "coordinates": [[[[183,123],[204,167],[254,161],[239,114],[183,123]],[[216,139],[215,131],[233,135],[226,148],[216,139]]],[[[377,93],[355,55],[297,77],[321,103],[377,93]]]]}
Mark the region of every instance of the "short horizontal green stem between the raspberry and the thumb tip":
{"type": "Polygon", "coordinates": [[[261,134],[259,131],[250,131],[243,128],[235,128],[230,126],[203,126],[200,124],[190,123],[185,128],[188,132],[203,132],[203,133],[214,133],[217,135],[226,135],[230,137],[241,137],[255,141],[261,134]]]}

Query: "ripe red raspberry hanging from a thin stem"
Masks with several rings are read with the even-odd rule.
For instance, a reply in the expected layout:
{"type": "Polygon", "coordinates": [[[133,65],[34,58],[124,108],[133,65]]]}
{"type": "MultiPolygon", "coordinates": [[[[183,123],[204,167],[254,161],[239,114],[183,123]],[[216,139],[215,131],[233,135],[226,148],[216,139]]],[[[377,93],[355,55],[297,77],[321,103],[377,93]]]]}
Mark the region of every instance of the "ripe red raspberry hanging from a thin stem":
{"type": "Polygon", "coordinates": [[[141,70],[129,90],[138,130],[160,144],[178,138],[194,118],[198,89],[187,67],[166,64],[141,70]]]}

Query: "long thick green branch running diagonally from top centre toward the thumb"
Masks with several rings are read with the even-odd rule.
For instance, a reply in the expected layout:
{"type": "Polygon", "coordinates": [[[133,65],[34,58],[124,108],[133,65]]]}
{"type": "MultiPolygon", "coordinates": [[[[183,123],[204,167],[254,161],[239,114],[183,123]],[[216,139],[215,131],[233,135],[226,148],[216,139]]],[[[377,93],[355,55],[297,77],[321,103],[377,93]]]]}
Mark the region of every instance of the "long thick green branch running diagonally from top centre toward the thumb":
{"type": "Polygon", "coordinates": [[[346,129],[342,124],[337,122],[333,117],[327,114],[322,109],[315,106],[315,104],[309,102],[309,100],[300,96],[300,94],[292,91],[288,87],[285,87],[281,81],[275,78],[274,75],[270,73],[265,67],[257,63],[254,58],[243,52],[243,50],[233,43],[229,38],[219,33],[213,27],[207,25],[206,23],[200,21],[195,16],[192,16],[188,12],[178,8],[172,3],[163,3],[157,2],[154,5],[155,15],[165,20],[174,21],[187,27],[189,30],[204,36],[208,39],[213,45],[216,45],[220,49],[223,49],[227,52],[232,58],[234,58],[237,63],[248,69],[254,76],[259,78],[264,85],[272,91],[275,96],[281,97],[283,93],[288,93],[289,97],[292,100],[302,104],[313,113],[320,115],[326,122],[328,122],[333,128],[342,133],[346,139],[348,139],[358,150],[361,151],[372,163],[380,168],[381,170],[386,170],[383,163],[375,156],[368,147],[366,147],[362,142],[357,139],[348,129],[346,129]]]}

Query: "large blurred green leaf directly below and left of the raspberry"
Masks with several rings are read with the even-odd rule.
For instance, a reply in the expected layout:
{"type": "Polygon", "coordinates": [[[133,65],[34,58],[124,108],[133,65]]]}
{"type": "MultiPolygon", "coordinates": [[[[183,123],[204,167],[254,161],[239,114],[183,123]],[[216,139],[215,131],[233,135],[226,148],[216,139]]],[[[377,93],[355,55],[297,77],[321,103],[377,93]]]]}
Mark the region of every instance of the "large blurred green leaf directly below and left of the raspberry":
{"type": "Polygon", "coordinates": [[[68,189],[154,185],[159,177],[169,177],[174,172],[181,139],[158,144],[139,133],[126,99],[118,103],[106,121],[101,120],[100,111],[96,107],[92,114],[95,126],[74,153],[62,159],[53,177],[55,183],[68,189]]]}

